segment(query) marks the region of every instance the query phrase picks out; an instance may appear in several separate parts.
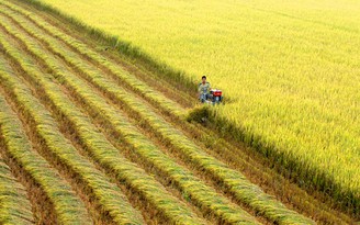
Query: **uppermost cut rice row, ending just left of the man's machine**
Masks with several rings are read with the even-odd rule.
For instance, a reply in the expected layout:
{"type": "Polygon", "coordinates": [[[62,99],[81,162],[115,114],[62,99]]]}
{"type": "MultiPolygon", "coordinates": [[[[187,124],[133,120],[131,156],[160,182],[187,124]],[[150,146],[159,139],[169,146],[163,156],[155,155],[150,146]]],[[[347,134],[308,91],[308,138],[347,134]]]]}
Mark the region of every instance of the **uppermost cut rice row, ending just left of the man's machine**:
{"type": "Polygon", "coordinates": [[[88,58],[91,58],[91,60],[95,61],[97,64],[105,67],[111,71],[111,74],[120,79],[122,83],[126,83],[127,87],[131,87],[136,92],[140,93],[145,99],[150,100],[159,105],[161,105],[164,109],[168,110],[168,112],[176,114],[178,116],[184,115],[184,109],[182,109],[177,102],[166,98],[160,92],[154,90],[151,87],[143,82],[142,80],[137,79],[135,76],[131,75],[130,72],[125,71],[121,66],[116,65],[116,63],[112,61],[109,58],[105,58],[101,54],[98,54],[97,52],[89,48],[88,45],[85,43],[65,34],[59,29],[53,26],[48,22],[44,21],[41,16],[29,12],[21,7],[18,7],[11,2],[1,2],[1,4],[4,4],[12,9],[13,11],[21,13],[20,14],[14,12],[8,12],[11,13],[13,18],[16,18],[19,22],[26,23],[27,27],[35,29],[34,25],[31,25],[31,23],[36,24],[41,29],[47,31],[48,33],[53,34],[55,37],[61,40],[67,45],[74,47],[77,49],[81,55],[87,56],[88,58]],[[26,18],[24,18],[26,16],[26,18]]]}

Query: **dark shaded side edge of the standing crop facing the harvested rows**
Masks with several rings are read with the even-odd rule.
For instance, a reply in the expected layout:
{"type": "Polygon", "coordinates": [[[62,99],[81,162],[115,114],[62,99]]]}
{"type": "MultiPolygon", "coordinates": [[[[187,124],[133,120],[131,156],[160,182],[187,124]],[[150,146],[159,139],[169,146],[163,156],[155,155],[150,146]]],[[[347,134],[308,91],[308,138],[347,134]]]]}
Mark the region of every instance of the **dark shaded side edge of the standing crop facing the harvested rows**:
{"type": "MultiPolygon", "coordinates": [[[[139,65],[145,70],[165,79],[171,85],[182,83],[180,87],[181,91],[190,92],[195,97],[195,80],[188,78],[184,71],[176,70],[169,65],[156,60],[148,54],[144,53],[139,47],[122,41],[119,36],[110,35],[100,29],[87,25],[75,16],[66,14],[38,0],[16,1],[32,4],[38,10],[46,11],[53,16],[68,22],[74,29],[81,31],[95,41],[115,49],[125,61],[139,65]]],[[[190,113],[189,120],[200,122],[206,127],[216,130],[220,136],[225,139],[245,143],[252,147],[252,149],[256,149],[263,157],[268,158],[270,167],[273,167],[279,173],[292,180],[292,182],[296,182],[310,193],[313,193],[314,191],[322,192],[326,201],[334,203],[339,210],[352,215],[356,220],[360,218],[360,198],[357,196],[356,193],[349,190],[344,190],[342,187],[336,184],[326,173],[314,167],[310,167],[304,161],[299,161],[295,157],[289,155],[285,156],[279,150],[275,150],[279,149],[279,147],[274,144],[265,143],[262,136],[246,132],[241,125],[234,125],[228,119],[218,115],[216,109],[200,108],[190,113]],[[210,123],[203,123],[202,120],[199,120],[202,117],[206,117],[210,123]],[[313,181],[314,177],[316,178],[315,182],[313,181]],[[302,182],[300,182],[301,180],[302,182]]]]}

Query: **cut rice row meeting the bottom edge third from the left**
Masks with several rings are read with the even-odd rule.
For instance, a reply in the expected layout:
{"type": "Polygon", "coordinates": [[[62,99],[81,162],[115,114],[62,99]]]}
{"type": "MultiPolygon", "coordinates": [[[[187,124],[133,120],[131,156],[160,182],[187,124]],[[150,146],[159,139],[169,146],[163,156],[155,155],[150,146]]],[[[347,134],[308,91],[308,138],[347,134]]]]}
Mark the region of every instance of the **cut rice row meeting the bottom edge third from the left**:
{"type": "MultiPolygon", "coordinates": [[[[15,47],[11,38],[4,33],[0,34],[0,42],[5,53],[16,61],[27,74],[37,72],[31,58],[24,56],[20,48],[15,47]]],[[[41,75],[40,75],[41,76],[41,75]]],[[[58,126],[49,112],[37,99],[31,94],[18,77],[1,74],[3,88],[12,95],[21,108],[21,113],[26,122],[37,133],[38,142],[44,149],[42,154],[52,162],[60,162],[63,170],[71,173],[79,183],[85,185],[91,200],[97,203],[106,223],[143,224],[140,214],[134,210],[121,190],[111,183],[104,173],[93,168],[89,161],[80,156],[77,149],[59,132],[58,126]]]]}

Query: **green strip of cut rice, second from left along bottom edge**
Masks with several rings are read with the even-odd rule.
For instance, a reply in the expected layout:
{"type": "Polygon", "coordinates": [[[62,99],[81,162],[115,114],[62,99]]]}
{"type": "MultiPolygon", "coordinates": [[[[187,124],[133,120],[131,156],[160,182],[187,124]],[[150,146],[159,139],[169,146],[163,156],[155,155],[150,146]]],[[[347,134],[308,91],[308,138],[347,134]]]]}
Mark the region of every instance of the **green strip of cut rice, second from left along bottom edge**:
{"type": "MultiPolygon", "coordinates": [[[[0,76],[1,78],[14,76],[3,58],[0,58],[0,76]]],[[[27,94],[27,92],[24,93],[27,94]]],[[[29,172],[35,183],[44,190],[52,204],[54,204],[58,223],[91,224],[91,220],[81,200],[76,196],[71,187],[60,178],[58,172],[32,149],[27,137],[23,133],[21,122],[2,97],[0,102],[1,134],[4,138],[7,150],[29,172]],[[55,183],[56,185],[54,185],[55,183]]],[[[13,207],[13,210],[16,209],[19,206],[13,207]]]]}

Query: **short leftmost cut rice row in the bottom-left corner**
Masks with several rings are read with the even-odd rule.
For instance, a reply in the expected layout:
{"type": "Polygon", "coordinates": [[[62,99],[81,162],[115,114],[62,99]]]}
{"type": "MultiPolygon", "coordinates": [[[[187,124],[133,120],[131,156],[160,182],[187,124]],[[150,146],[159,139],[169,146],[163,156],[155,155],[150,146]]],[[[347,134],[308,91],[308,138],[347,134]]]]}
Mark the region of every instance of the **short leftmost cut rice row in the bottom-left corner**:
{"type": "MultiPolygon", "coordinates": [[[[4,99],[0,95],[0,124],[4,116],[4,99]]],[[[34,224],[31,203],[24,187],[11,175],[10,168],[0,158],[0,224],[34,224]]]]}

